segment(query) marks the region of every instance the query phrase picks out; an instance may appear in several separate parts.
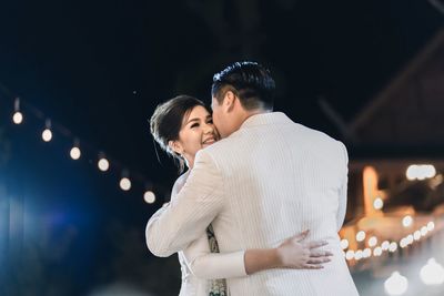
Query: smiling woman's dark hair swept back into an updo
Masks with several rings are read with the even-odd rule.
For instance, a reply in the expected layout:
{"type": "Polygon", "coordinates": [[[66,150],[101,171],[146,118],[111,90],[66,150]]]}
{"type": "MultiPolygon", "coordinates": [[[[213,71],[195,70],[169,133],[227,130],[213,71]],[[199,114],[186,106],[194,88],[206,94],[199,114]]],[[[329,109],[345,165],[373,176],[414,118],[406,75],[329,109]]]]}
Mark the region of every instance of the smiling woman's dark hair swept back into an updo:
{"type": "Polygon", "coordinates": [[[181,155],[169,147],[168,142],[179,140],[179,132],[182,127],[183,119],[198,105],[208,110],[202,101],[193,96],[178,95],[159,104],[150,119],[152,136],[162,150],[178,161],[179,173],[184,171],[185,162],[181,155]]]}

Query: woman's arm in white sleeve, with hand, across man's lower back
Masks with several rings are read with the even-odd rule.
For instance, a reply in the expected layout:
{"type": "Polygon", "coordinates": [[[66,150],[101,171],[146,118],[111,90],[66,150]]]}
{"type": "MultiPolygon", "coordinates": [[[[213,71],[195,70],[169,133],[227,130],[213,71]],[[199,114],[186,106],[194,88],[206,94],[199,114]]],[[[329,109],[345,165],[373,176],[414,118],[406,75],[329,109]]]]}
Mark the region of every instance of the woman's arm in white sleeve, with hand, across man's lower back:
{"type": "Polygon", "coordinates": [[[325,242],[303,242],[307,232],[285,239],[275,248],[210,253],[206,234],[183,252],[190,271],[200,278],[232,278],[272,268],[320,269],[330,252],[320,251],[325,242]]]}

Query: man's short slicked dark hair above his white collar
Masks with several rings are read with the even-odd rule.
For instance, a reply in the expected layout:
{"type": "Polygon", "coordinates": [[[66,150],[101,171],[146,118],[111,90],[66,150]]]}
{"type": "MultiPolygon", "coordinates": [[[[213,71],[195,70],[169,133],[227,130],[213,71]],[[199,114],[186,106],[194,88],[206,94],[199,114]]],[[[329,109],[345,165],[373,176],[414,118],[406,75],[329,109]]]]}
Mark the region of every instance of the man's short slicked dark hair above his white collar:
{"type": "Polygon", "coordinates": [[[222,102],[233,91],[246,110],[273,110],[275,83],[270,71],[256,62],[235,62],[214,74],[211,95],[222,102]]]}

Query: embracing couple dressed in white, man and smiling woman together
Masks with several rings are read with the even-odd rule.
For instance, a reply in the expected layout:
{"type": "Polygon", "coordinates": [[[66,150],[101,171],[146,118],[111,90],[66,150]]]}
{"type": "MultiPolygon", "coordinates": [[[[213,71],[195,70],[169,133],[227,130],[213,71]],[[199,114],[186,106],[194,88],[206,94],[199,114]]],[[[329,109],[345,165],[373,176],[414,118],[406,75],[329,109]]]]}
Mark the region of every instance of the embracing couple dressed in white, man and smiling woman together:
{"type": "Polygon", "coordinates": [[[212,112],[179,95],[150,121],[183,172],[148,222],[157,256],[179,254],[181,296],[357,295],[340,247],[345,146],[273,112],[255,62],[214,74],[212,112]]]}

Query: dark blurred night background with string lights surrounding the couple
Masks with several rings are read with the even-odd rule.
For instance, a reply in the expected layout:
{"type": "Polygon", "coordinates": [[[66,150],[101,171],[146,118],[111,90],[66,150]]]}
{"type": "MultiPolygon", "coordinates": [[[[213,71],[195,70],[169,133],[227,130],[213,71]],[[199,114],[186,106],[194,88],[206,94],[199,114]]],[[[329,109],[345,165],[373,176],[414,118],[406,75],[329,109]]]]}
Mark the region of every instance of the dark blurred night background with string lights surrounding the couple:
{"type": "Polygon", "coordinates": [[[346,144],[361,295],[444,295],[443,20],[442,0],[2,1],[0,295],[178,295],[144,242],[178,176],[148,119],[241,60],[346,144]]]}

